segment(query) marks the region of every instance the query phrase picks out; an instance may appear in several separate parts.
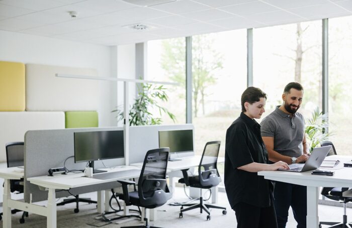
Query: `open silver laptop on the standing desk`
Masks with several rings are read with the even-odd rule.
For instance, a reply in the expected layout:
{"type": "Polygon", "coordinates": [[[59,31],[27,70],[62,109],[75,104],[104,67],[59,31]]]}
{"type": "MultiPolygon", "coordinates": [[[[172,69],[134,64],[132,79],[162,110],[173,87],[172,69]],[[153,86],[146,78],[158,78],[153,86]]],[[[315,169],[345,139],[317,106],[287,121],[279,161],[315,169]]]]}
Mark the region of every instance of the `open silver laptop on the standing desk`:
{"type": "Polygon", "coordinates": [[[296,163],[289,165],[290,169],[278,169],[280,171],[289,172],[305,172],[320,167],[321,163],[329,153],[332,146],[322,146],[313,149],[308,160],[305,163],[296,163]]]}

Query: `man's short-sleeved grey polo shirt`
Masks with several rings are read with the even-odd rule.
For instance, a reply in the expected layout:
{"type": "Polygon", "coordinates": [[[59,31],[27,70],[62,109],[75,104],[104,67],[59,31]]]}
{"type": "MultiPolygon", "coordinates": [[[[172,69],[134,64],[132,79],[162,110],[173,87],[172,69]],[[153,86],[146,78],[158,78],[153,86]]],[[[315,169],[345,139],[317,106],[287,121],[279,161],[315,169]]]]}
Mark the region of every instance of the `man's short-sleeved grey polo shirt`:
{"type": "Polygon", "coordinates": [[[304,118],[296,112],[291,119],[279,107],[261,121],[261,137],[274,137],[274,150],[280,154],[299,157],[303,154],[304,118]]]}

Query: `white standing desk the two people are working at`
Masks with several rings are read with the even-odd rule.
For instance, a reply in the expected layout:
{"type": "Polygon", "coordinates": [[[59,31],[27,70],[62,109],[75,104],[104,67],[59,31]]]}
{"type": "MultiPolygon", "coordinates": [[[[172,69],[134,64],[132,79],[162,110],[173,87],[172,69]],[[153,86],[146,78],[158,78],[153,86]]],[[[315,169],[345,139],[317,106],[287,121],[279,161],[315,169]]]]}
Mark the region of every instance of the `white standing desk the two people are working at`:
{"type": "MultiPolygon", "coordinates": [[[[352,156],[332,155],[326,160],[339,160],[340,163],[350,161],[352,156]]],[[[331,170],[327,169],[326,170],[331,170]]],[[[352,187],[352,168],[335,169],[333,176],[312,175],[312,171],[260,171],[258,175],[266,179],[307,186],[307,227],[318,227],[319,187],[352,187]]]]}

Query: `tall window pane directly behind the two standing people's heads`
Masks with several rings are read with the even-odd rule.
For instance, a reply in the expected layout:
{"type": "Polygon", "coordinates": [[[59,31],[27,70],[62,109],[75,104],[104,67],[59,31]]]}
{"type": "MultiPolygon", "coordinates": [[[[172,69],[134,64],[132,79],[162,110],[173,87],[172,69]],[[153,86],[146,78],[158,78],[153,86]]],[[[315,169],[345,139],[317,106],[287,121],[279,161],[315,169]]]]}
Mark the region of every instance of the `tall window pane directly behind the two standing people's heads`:
{"type": "Polygon", "coordinates": [[[253,86],[268,96],[263,117],[282,104],[285,85],[293,81],[304,88],[299,112],[310,118],[321,110],[321,52],[321,21],[253,31],[253,86]]]}

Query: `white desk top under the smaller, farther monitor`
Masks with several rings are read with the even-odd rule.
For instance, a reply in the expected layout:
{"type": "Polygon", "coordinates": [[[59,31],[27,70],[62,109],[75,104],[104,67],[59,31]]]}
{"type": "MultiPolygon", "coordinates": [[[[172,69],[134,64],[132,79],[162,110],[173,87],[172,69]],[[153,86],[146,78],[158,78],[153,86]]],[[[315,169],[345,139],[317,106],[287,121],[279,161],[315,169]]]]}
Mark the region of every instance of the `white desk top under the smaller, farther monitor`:
{"type": "MultiPolygon", "coordinates": [[[[167,171],[168,172],[197,167],[199,165],[199,162],[201,161],[202,156],[194,155],[194,156],[180,157],[180,158],[182,158],[182,160],[167,162],[167,171]]],[[[225,162],[225,158],[218,157],[218,163],[223,163],[223,162],[225,162]]],[[[142,167],[143,162],[133,163],[131,165],[136,166],[136,167],[142,167]]]]}

